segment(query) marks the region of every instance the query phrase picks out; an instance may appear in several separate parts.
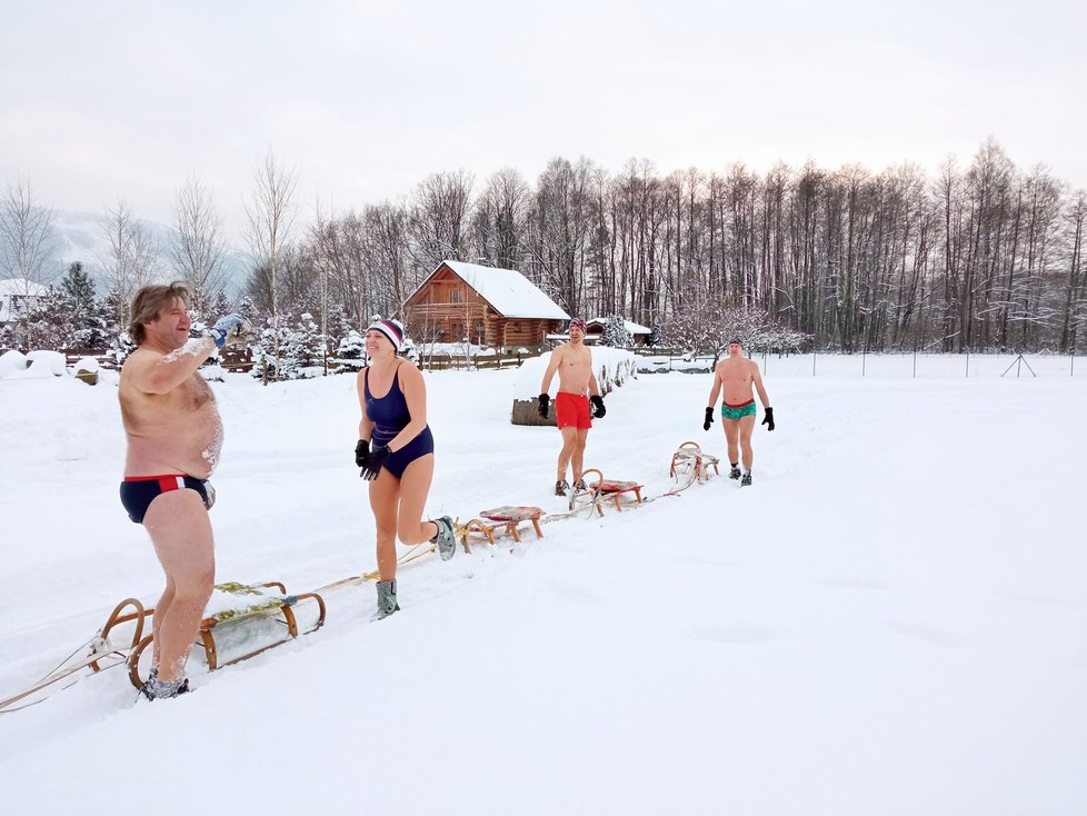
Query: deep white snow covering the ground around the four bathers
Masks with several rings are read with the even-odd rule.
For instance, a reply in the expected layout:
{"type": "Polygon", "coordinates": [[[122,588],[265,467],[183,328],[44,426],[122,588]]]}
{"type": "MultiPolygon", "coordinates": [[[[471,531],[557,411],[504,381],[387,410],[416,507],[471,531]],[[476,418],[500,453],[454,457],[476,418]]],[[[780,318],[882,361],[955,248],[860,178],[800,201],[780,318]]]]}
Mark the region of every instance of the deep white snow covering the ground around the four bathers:
{"type": "MultiPolygon", "coordinates": [[[[0,813],[1080,816],[1087,362],[973,359],[770,358],[750,488],[428,557],[380,624],[371,584],[331,590],[323,629],[195,656],[177,700],[113,669],[0,714],[0,813]]],[[[517,378],[427,375],[430,514],[562,509],[558,432],[509,424],[517,378]]],[[[161,589],[103,380],[0,381],[0,697],[161,589]]],[[[353,378],[212,387],[219,580],[372,569],[353,378]]],[[[628,382],[586,464],[665,494],[680,442],[724,456],[709,388],[628,382]]]]}

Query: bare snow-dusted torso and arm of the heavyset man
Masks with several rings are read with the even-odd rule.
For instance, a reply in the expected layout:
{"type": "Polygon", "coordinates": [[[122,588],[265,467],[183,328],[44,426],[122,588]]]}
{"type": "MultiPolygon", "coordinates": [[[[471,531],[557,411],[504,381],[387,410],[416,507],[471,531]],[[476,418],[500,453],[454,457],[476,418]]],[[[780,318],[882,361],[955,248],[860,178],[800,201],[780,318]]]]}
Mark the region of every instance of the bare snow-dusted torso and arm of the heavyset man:
{"type": "MultiPolygon", "coordinates": [[[[203,341],[192,346],[192,350],[182,348],[172,354],[207,354],[203,341]]],[[[207,479],[219,461],[222,422],[203,377],[193,372],[164,394],[144,391],[137,385],[167,357],[141,347],[121,369],[119,397],[128,437],[124,475],[187,474],[207,479]]]]}

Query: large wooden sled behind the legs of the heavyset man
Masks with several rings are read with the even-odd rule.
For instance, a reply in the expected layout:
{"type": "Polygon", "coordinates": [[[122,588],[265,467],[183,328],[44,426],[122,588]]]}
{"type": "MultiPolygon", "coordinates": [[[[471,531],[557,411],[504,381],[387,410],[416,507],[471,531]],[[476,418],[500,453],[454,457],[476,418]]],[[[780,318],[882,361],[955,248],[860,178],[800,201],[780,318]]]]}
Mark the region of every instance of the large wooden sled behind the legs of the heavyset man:
{"type": "MultiPolygon", "coordinates": [[[[217,593],[212,595],[211,600],[208,603],[208,609],[206,610],[211,611],[211,614],[200,621],[200,630],[197,634],[199,643],[203,647],[203,655],[209,671],[215,671],[217,668],[230,666],[255,657],[262,651],[267,651],[297,638],[300,634],[309,635],[312,631],[317,631],[325,625],[325,599],[317,593],[288,595],[287,588],[278,581],[270,581],[257,586],[238,583],[217,584],[216,590],[217,593]],[[268,591],[269,589],[276,589],[278,591],[270,593],[268,591]],[[298,618],[295,615],[293,607],[303,600],[313,600],[317,604],[317,620],[310,628],[305,631],[299,631],[298,618]],[[226,633],[251,626],[257,620],[275,621],[277,626],[273,627],[275,635],[272,635],[272,641],[265,643],[255,649],[248,649],[245,654],[233,656],[230,659],[221,659],[221,655],[219,654],[220,646],[216,639],[217,636],[221,639],[226,633]]],[[[143,616],[150,616],[153,613],[153,609],[148,609],[143,613],[143,616]]],[[[128,620],[134,619],[134,615],[121,616],[114,621],[114,625],[127,623],[128,620]]],[[[141,618],[138,623],[138,628],[142,628],[142,626],[143,620],[141,618]]],[[[108,635],[109,628],[103,634],[108,635]]],[[[137,688],[142,687],[143,680],[146,679],[140,673],[140,656],[151,645],[151,635],[143,637],[136,644],[128,657],[128,676],[132,685],[137,688]]]]}

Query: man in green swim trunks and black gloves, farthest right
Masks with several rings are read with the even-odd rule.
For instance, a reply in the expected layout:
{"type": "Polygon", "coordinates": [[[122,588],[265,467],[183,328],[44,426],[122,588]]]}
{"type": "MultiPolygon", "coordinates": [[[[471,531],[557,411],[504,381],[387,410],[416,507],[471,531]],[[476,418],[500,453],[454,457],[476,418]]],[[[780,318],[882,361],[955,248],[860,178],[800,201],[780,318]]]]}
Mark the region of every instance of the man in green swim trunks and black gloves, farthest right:
{"type": "Polygon", "coordinates": [[[744,357],[744,346],[738,339],[728,341],[728,356],[717,364],[714,369],[714,387],[709,389],[709,405],[702,430],[709,430],[714,424],[714,408],[718,395],[721,401],[721,424],[725,426],[725,441],[728,444],[728,461],[732,466],[728,478],[740,479],[740,485],[751,484],[751,464],[755,459],[751,452],[751,431],[755,430],[755,419],[758,416],[755,408],[755,397],[751,388],[759,395],[766,416],[762,425],[767,430],[774,430],[774,409],[762,387],[762,375],[754,360],[744,357]],[[742,478],[739,469],[740,454],[744,457],[742,478]]]}

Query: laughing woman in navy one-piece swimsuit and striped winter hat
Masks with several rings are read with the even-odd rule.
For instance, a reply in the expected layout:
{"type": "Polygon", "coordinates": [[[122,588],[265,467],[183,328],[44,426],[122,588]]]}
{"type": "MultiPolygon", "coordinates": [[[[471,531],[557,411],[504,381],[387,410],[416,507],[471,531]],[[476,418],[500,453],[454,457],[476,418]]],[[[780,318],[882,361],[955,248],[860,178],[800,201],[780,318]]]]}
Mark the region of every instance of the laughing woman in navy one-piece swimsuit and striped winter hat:
{"type": "Polygon", "coordinates": [[[432,541],[442,560],[457,548],[452,519],[422,520],[435,472],[435,444],[427,425],[427,386],[410,361],[397,357],[403,326],[375,320],[366,330],[368,368],[359,371],[359,444],[355,461],[370,481],[370,507],[377,524],[377,619],[400,609],[397,603],[396,539],[408,545],[432,541]]]}

